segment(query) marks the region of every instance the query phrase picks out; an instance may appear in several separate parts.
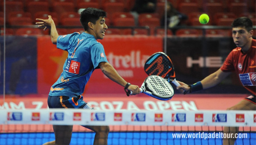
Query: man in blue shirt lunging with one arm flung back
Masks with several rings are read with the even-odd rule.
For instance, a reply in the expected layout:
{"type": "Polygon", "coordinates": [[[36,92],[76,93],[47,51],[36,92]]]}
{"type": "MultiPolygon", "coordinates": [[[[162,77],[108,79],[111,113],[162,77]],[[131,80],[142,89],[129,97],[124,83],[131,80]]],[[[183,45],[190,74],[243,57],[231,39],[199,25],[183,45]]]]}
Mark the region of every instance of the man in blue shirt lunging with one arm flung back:
{"type": "MultiPolygon", "coordinates": [[[[103,39],[108,26],[105,24],[106,12],[87,8],[81,12],[80,22],[84,32],[75,32],[68,35],[58,35],[56,26],[51,16],[47,20],[36,19],[36,24],[44,27],[44,30],[51,28],[51,41],[57,44],[57,48],[68,52],[67,60],[63,66],[63,72],[58,80],[52,85],[48,96],[49,108],[84,108],[92,109],[83,101],[81,94],[91,74],[97,68],[112,81],[131,90],[132,95],[140,93],[136,85],[126,82],[108,63],[105,51],[97,39],[103,39]]],[[[84,126],[94,131],[94,145],[107,145],[109,126],[84,126]]],[[[73,125],[53,125],[55,141],[47,142],[44,145],[69,145],[72,136],[73,125]]]]}

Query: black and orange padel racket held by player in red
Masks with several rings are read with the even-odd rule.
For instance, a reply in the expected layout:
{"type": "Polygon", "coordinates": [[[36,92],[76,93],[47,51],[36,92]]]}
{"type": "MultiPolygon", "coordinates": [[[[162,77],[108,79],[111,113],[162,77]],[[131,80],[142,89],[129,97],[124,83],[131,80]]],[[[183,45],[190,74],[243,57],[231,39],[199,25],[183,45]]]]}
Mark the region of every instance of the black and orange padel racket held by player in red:
{"type": "Polygon", "coordinates": [[[144,70],[148,75],[158,75],[166,78],[176,86],[180,84],[175,79],[175,70],[171,59],[163,52],[157,52],[151,55],[145,62],[144,70]],[[170,78],[172,78],[170,80],[170,78]]]}

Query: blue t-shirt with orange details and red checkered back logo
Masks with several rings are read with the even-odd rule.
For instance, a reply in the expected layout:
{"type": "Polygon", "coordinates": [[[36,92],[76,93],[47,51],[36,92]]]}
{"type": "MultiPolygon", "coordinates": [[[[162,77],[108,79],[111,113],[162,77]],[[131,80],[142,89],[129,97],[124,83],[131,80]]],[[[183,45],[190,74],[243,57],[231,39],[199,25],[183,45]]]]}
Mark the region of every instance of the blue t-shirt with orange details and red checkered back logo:
{"type": "Polygon", "coordinates": [[[81,95],[99,63],[108,62],[102,44],[87,33],[61,35],[57,40],[57,48],[67,51],[68,56],[63,72],[52,85],[49,96],[81,95]]]}

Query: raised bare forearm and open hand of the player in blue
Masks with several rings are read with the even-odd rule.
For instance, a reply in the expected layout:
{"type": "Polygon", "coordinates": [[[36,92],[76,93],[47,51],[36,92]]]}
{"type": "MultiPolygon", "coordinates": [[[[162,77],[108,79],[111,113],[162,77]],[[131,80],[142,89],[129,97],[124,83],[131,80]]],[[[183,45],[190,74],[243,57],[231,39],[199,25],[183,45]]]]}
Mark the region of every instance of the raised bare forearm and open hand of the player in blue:
{"type": "Polygon", "coordinates": [[[36,18],[35,20],[38,20],[40,22],[36,22],[35,24],[38,25],[38,27],[44,27],[44,30],[47,28],[51,29],[51,40],[53,44],[57,44],[57,39],[58,39],[58,32],[55,26],[54,21],[52,20],[52,16],[48,16],[49,18],[47,20],[44,19],[38,19],[36,18]]]}

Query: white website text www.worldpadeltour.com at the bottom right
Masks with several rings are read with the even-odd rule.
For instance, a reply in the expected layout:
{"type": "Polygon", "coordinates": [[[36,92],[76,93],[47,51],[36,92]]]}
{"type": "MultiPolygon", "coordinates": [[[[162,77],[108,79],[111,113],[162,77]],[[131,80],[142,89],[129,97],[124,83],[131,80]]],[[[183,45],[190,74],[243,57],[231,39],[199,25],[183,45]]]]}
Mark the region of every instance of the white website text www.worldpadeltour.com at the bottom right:
{"type": "Polygon", "coordinates": [[[175,139],[224,139],[224,138],[240,138],[246,139],[247,133],[223,133],[223,132],[198,132],[198,133],[172,133],[172,137],[175,139]]]}

